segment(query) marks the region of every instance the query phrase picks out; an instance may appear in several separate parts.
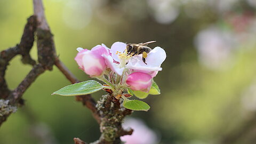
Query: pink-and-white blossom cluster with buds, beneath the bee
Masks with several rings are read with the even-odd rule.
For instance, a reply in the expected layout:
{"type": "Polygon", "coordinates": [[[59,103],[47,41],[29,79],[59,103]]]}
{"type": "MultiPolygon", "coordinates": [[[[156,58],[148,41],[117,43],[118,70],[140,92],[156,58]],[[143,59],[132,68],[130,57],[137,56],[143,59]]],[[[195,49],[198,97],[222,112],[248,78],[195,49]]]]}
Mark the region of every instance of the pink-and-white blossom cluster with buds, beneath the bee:
{"type": "Polygon", "coordinates": [[[110,49],[101,44],[91,50],[78,47],[77,51],[75,60],[79,68],[108,84],[115,95],[122,95],[125,89],[149,92],[166,58],[165,51],[157,46],[147,54],[146,64],[142,54],[127,54],[126,44],[122,42],[115,42],[110,49]]]}

